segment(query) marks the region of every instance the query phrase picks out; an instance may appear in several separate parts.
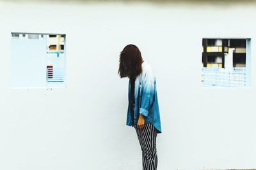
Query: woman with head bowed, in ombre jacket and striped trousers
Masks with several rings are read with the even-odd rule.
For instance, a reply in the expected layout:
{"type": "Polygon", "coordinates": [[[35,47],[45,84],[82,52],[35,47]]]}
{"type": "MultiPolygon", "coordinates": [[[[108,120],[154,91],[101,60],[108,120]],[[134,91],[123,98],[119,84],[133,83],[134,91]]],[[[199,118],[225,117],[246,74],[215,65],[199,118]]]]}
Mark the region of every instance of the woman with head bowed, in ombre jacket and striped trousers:
{"type": "Polygon", "coordinates": [[[143,170],[156,170],[156,136],[162,132],[156,77],[135,45],[125,46],[120,53],[118,74],[121,78],[129,78],[126,124],[136,129],[142,151],[143,170]]]}

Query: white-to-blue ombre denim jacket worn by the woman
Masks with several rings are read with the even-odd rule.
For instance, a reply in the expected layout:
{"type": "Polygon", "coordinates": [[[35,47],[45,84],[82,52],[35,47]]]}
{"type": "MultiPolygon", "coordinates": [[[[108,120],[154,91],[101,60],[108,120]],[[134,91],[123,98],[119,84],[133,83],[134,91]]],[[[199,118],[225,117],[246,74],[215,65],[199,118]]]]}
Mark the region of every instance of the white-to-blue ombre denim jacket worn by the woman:
{"type": "MultiPolygon", "coordinates": [[[[161,133],[162,130],[157,101],[156,77],[154,76],[152,67],[147,62],[144,61],[141,64],[141,67],[142,73],[136,77],[134,86],[134,127],[137,128],[139,114],[141,113],[141,115],[145,117],[145,123],[151,122],[158,130],[158,133],[161,133]]],[[[131,126],[131,80],[129,80],[128,99],[129,104],[126,124],[131,126]]]]}

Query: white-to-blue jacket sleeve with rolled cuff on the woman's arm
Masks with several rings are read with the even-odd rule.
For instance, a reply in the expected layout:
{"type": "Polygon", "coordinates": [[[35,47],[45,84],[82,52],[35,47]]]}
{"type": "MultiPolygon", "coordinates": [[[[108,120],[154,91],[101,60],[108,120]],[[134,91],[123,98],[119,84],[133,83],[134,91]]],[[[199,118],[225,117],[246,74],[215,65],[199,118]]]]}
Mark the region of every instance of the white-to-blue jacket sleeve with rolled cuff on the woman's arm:
{"type": "Polygon", "coordinates": [[[152,70],[147,71],[145,74],[144,85],[141,88],[141,105],[140,105],[140,114],[147,117],[150,106],[152,106],[154,99],[154,80],[155,76],[152,70]]]}

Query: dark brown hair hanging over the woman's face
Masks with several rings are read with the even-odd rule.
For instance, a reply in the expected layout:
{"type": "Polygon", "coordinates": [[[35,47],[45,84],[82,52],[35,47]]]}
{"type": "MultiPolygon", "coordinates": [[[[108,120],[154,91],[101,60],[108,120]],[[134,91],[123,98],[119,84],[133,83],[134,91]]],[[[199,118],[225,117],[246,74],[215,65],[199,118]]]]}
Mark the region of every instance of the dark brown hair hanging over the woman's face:
{"type": "Polygon", "coordinates": [[[136,45],[127,45],[120,52],[118,74],[121,78],[136,78],[141,72],[143,59],[136,45]]]}

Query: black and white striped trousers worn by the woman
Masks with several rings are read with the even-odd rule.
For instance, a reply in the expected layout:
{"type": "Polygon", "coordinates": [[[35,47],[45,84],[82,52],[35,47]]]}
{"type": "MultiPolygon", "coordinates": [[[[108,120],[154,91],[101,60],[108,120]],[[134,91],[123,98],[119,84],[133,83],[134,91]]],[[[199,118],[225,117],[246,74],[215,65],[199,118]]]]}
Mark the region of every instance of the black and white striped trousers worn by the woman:
{"type": "Polygon", "coordinates": [[[156,136],[157,130],[153,124],[147,123],[142,129],[136,128],[142,151],[143,170],[157,169],[156,136]]]}

